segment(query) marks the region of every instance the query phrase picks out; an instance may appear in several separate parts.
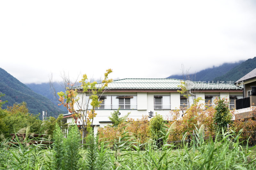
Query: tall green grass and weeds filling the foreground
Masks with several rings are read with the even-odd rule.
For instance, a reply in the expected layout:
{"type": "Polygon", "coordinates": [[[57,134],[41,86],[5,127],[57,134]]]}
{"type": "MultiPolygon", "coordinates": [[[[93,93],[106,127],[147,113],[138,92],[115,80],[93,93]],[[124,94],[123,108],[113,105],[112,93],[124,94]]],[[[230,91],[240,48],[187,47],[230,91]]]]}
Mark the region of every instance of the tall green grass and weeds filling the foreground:
{"type": "MultiPolygon", "coordinates": [[[[67,138],[58,126],[54,131],[52,146],[43,149],[41,145],[18,144],[8,147],[8,141],[0,145],[0,169],[127,169],[127,170],[167,170],[167,169],[255,169],[255,155],[248,145],[242,146],[239,135],[233,131],[217,134],[216,140],[204,139],[204,126],[195,127],[195,135],[190,144],[187,134],[182,143],[168,143],[167,139],[175,124],[161,131],[161,145],[154,140],[141,144],[136,135],[125,132],[114,145],[108,139],[97,143],[92,132],[86,138],[85,147],[80,145],[80,135],[76,126],[71,126],[67,138]],[[176,149],[178,148],[178,149],[176,149]]],[[[44,146],[46,147],[46,146],[44,146]]]]}

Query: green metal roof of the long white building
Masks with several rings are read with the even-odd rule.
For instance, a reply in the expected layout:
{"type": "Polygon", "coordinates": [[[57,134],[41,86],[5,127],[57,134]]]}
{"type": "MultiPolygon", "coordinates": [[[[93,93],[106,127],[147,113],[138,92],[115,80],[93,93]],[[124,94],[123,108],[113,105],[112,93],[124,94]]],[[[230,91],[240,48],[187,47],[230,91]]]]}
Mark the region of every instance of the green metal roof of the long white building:
{"type": "MultiPolygon", "coordinates": [[[[120,80],[114,80],[108,84],[107,89],[180,89],[179,79],[173,78],[125,78],[120,80]]],[[[100,85],[99,83],[98,85],[100,85]]],[[[241,87],[237,87],[233,84],[225,83],[203,83],[196,81],[186,81],[187,87],[190,89],[209,89],[209,90],[220,90],[220,89],[236,89],[241,90],[241,87]]],[[[81,87],[75,87],[81,88],[81,87]]]]}

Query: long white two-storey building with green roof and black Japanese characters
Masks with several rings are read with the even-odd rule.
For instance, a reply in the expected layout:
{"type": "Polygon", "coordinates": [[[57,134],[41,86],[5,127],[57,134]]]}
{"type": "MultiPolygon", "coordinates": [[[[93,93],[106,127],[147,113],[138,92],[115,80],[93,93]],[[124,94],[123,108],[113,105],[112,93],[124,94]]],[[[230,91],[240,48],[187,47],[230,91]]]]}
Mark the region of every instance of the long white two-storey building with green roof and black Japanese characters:
{"type": "MultiPolygon", "coordinates": [[[[170,118],[170,111],[188,107],[186,98],[183,97],[183,94],[177,92],[177,90],[180,90],[181,81],[172,78],[127,78],[109,83],[107,92],[99,99],[102,100],[100,107],[95,109],[97,116],[93,120],[94,130],[97,131],[96,129],[99,126],[112,124],[108,116],[118,108],[120,108],[120,116],[130,112],[129,118],[133,119],[140,119],[142,115],[147,115],[150,118],[156,113],[163,115],[164,119],[170,118]]],[[[234,100],[243,97],[242,88],[233,84],[186,81],[186,85],[192,93],[189,97],[190,105],[194,98],[201,97],[203,99],[202,103],[212,106],[213,100],[220,96],[230,98],[230,108],[233,109],[234,100]]],[[[81,87],[75,88],[81,94],[81,87]]],[[[89,96],[86,96],[86,99],[88,100],[89,96]]],[[[72,120],[71,114],[64,115],[64,118],[67,122],[72,120]]]]}

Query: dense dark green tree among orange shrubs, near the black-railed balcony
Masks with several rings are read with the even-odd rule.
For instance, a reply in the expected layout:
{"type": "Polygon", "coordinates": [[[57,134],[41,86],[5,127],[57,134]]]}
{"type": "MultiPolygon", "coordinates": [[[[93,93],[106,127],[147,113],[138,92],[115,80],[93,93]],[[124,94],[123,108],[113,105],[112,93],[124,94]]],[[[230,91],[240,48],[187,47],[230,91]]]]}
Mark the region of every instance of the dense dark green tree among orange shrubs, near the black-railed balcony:
{"type": "Polygon", "coordinates": [[[213,117],[213,123],[215,130],[224,130],[227,129],[227,124],[232,124],[232,114],[229,110],[229,100],[228,98],[216,98],[214,100],[215,106],[215,113],[213,117]]]}

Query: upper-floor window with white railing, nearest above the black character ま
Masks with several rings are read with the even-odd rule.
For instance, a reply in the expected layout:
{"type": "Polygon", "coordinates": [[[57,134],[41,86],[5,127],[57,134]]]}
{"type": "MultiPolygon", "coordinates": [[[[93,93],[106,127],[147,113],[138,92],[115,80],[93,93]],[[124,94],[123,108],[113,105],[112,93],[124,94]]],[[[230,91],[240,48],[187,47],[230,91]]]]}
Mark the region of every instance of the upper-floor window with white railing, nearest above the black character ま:
{"type": "Polygon", "coordinates": [[[154,108],[157,109],[171,109],[171,96],[154,96],[154,108]]]}

